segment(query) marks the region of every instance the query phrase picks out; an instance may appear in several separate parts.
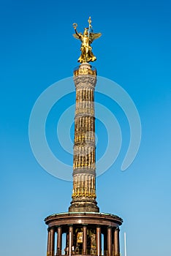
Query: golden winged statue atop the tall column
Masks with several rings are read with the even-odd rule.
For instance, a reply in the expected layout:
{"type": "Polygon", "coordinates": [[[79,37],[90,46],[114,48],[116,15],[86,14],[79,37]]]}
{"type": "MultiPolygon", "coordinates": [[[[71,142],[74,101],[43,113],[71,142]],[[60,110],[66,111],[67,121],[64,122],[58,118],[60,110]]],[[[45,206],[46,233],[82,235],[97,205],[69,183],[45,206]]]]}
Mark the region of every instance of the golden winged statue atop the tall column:
{"type": "Polygon", "coordinates": [[[96,56],[92,53],[91,43],[94,39],[101,37],[101,33],[94,33],[92,26],[91,26],[91,17],[88,19],[89,27],[84,29],[83,34],[77,32],[77,23],[73,24],[75,29],[75,34],[73,36],[76,39],[80,39],[81,43],[81,55],[80,58],[77,60],[80,63],[96,61],[96,56]]]}

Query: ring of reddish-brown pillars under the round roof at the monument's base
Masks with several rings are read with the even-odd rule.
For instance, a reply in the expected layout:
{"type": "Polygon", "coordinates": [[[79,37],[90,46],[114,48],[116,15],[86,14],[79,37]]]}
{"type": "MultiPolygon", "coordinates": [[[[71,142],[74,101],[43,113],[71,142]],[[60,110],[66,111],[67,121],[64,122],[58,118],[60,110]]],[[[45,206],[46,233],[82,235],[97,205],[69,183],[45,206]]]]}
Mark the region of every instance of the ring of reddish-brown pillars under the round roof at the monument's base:
{"type": "MultiPolygon", "coordinates": [[[[47,256],[60,256],[62,255],[62,234],[66,233],[66,249],[64,255],[102,255],[102,234],[104,235],[103,255],[104,256],[118,256],[119,252],[119,228],[96,225],[96,248],[88,250],[87,246],[87,230],[88,225],[82,225],[83,230],[83,249],[76,251],[76,244],[74,242],[74,231],[77,225],[69,225],[63,228],[61,226],[48,227],[47,237],[47,256]],[[55,243],[55,234],[57,234],[57,241],[55,243]],[[56,244],[56,255],[55,255],[56,244]],[[68,246],[67,246],[68,244],[68,246]]],[[[80,227],[80,226],[79,226],[80,227]]]]}

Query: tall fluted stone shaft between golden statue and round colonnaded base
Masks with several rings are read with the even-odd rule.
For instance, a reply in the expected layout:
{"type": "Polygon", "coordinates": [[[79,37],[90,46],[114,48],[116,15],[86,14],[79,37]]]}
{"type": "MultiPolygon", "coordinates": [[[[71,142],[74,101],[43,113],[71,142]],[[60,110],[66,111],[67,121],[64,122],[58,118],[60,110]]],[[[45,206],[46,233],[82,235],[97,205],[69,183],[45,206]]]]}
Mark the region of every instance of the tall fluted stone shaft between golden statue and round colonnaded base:
{"type": "Polygon", "coordinates": [[[80,64],[74,73],[75,143],[73,159],[73,192],[70,212],[99,212],[96,206],[96,145],[94,89],[96,70],[88,63],[80,64]]]}

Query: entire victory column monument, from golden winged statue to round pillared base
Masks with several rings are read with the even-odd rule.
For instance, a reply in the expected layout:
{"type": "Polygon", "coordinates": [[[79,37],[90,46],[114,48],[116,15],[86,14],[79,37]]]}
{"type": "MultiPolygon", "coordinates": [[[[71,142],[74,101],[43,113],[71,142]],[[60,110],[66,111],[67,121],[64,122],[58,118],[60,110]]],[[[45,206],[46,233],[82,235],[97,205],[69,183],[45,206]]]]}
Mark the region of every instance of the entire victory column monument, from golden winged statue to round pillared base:
{"type": "Polygon", "coordinates": [[[78,33],[77,24],[73,24],[73,36],[81,41],[81,55],[78,59],[80,66],[74,71],[76,105],[72,202],[68,212],[45,218],[48,225],[47,256],[120,255],[119,226],[123,220],[113,214],[100,213],[96,203],[96,69],[88,62],[96,60],[91,43],[101,33],[94,33],[91,18],[88,23],[83,34],[78,33]]]}

